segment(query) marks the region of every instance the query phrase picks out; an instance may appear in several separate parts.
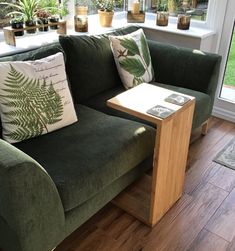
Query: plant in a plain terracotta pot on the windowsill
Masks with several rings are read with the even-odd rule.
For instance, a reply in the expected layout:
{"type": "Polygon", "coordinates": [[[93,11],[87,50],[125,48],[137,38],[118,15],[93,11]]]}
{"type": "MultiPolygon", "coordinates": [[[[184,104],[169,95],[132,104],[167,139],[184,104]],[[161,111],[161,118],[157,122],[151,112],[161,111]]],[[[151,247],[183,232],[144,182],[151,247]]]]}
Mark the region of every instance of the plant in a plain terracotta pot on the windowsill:
{"type": "Polygon", "coordinates": [[[114,15],[114,1],[113,0],[98,0],[98,14],[100,25],[103,27],[112,26],[114,15]]]}

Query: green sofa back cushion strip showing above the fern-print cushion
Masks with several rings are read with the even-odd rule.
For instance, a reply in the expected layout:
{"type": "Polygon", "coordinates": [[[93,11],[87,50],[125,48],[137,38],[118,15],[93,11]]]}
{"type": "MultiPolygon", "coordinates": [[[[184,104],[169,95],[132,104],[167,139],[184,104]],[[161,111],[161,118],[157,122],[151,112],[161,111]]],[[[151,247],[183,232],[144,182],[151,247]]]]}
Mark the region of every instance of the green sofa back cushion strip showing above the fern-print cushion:
{"type": "MultiPolygon", "coordinates": [[[[37,60],[57,52],[63,52],[60,44],[58,42],[42,46],[38,49],[32,49],[26,52],[21,52],[18,54],[0,57],[0,62],[6,61],[26,61],[26,60],[37,60]]],[[[0,118],[0,138],[2,138],[2,123],[0,118]]]]}

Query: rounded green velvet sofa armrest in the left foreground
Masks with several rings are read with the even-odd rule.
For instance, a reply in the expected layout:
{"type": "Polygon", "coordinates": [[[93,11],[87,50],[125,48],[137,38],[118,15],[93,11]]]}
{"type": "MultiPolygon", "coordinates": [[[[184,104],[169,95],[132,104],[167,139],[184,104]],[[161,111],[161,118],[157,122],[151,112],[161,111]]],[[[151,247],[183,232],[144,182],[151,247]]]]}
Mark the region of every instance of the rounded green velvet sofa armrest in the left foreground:
{"type": "Polygon", "coordinates": [[[63,235],[64,222],[63,206],[48,173],[0,140],[0,248],[51,250],[63,235]]]}

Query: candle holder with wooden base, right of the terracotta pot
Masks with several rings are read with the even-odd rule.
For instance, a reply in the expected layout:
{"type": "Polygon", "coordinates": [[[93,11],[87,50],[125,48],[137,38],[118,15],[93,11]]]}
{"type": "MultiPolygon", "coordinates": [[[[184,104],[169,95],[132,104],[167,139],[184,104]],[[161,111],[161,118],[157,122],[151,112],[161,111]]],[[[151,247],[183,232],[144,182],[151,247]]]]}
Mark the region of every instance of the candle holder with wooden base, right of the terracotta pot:
{"type": "Polygon", "coordinates": [[[127,22],[144,23],[145,21],[145,1],[128,0],[127,22]]]}

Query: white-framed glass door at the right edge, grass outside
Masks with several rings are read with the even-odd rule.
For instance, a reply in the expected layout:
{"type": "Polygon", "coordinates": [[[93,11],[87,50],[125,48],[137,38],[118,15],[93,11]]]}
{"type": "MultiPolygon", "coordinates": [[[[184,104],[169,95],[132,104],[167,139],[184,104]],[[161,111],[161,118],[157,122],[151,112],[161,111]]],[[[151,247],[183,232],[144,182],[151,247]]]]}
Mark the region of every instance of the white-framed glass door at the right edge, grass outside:
{"type": "Polygon", "coordinates": [[[235,122],[235,1],[228,0],[219,46],[222,55],[213,114],[235,122]]]}

